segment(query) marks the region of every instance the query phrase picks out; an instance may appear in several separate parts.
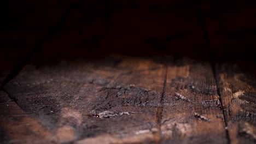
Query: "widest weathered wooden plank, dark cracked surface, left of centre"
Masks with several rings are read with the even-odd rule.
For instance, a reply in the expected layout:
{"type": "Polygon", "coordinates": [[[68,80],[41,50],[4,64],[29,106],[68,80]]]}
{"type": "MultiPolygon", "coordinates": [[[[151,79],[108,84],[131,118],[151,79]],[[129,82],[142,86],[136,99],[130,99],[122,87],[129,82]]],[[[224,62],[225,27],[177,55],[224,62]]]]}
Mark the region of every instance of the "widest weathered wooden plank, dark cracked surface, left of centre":
{"type": "Polygon", "coordinates": [[[51,141],[148,143],[159,141],[165,73],[157,61],[121,57],[27,65],[5,89],[51,141]]]}

